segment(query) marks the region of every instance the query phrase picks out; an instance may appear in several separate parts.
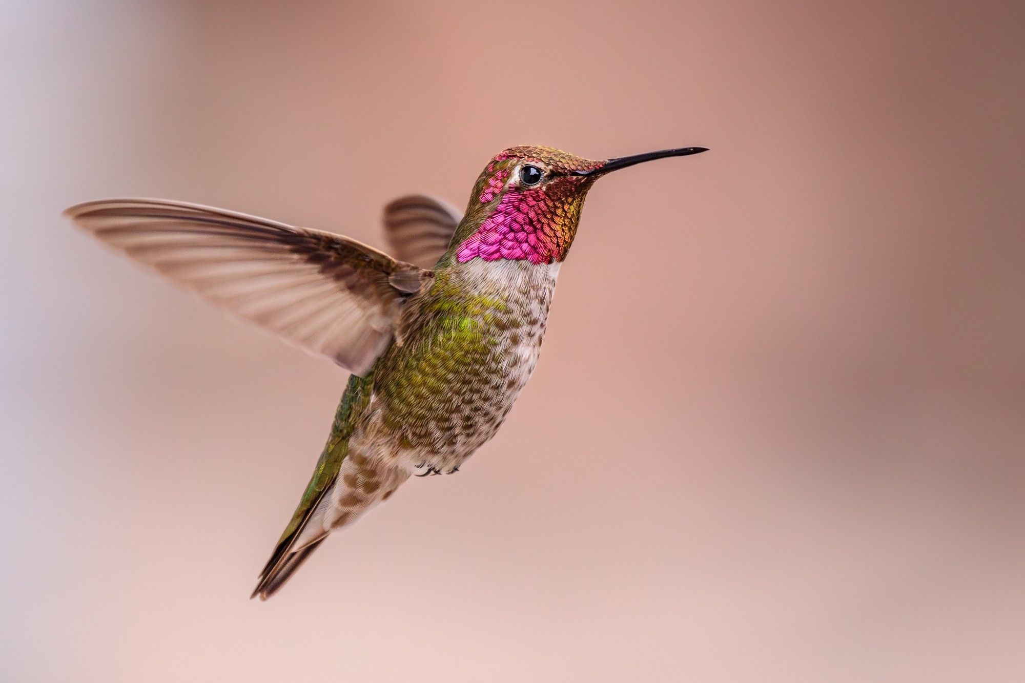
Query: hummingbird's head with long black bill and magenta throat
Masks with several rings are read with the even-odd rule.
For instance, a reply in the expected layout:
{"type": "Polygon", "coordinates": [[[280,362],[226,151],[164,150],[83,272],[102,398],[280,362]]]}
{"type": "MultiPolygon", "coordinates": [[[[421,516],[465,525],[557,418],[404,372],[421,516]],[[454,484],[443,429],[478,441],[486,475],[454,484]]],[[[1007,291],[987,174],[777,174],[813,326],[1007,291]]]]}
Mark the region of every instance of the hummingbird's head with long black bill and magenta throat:
{"type": "Polygon", "coordinates": [[[596,179],[644,161],[705,151],[688,147],[594,161],[550,147],[509,148],[477,178],[453,237],[455,259],[562,262],[596,179]]]}

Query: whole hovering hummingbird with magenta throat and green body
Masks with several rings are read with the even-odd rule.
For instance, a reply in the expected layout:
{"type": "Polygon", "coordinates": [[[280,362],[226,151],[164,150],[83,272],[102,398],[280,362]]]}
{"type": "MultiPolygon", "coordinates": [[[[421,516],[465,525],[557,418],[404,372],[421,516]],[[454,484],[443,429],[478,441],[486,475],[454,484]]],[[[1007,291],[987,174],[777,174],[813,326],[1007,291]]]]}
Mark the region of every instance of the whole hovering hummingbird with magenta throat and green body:
{"type": "Polygon", "coordinates": [[[393,255],[348,237],[159,199],[65,211],[135,262],[350,371],[313,477],[259,574],[266,600],[328,535],[410,477],[452,474],[491,439],[537,363],[559,269],[594,182],[688,147],[590,160],[509,148],[464,213],[384,208],[393,255]]]}

